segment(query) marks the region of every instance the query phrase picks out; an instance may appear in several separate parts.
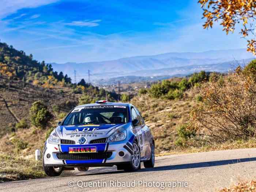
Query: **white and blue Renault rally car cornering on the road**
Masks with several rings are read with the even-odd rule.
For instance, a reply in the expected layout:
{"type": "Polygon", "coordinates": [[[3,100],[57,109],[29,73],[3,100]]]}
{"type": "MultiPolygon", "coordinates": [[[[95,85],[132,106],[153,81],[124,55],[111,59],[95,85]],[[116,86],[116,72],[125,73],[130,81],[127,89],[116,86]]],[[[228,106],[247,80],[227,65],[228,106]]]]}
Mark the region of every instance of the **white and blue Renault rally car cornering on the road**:
{"type": "Polygon", "coordinates": [[[117,166],[136,171],[140,162],[154,167],[155,144],[138,109],[129,103],[97,101],[72,109],[45,142],[43,168],[48,176],[63,170],[117,166]]]}

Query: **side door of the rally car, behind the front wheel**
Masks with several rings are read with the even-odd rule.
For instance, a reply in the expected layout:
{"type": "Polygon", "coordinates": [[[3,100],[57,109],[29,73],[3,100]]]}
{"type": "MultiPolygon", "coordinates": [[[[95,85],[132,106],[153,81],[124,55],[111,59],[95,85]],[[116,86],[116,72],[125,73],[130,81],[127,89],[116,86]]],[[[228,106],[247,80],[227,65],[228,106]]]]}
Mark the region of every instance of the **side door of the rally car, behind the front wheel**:
{"type": "Polygon", "coordinates": [[[133,120],[138,120],[139,121],[139,124],[136,125],[135,127],[133,126],[133,133],[136,135],[136,138],[138,140],[138,145],[139,145],[139,148],[140,148],[140,157],[144,157],[144,150],[143,150],[143,134],[142,134],[142,124],[139,120],[139,116],[138,114],[136,113],[135,111],[135,108],[132,106],[131,107],[131,116],[132,116],[132,122],[133,120]]]}

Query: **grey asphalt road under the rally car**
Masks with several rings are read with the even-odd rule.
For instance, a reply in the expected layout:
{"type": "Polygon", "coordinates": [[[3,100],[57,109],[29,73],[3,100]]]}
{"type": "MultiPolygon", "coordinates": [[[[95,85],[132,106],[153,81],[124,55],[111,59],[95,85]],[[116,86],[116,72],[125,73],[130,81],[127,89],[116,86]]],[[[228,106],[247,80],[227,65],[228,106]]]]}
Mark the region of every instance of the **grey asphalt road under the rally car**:
{"type": "Polygon", "coordinates": [[[0,184],[0,191],[218,191],[239,180],[255,177],[255,170],[256,148],[211,151],[157,157],[154,168],[142,166],[138,172],[94,167],[88,172],[69,171],[61,177],[5,182],[0,184]],[[71,184],[74,181],[74,187],[68,186],[69,181],[71,184]],[[161,184],[166,187],[161,189],[161,184]],[[175,184],[178,187],[170,186],[175,184]]]}

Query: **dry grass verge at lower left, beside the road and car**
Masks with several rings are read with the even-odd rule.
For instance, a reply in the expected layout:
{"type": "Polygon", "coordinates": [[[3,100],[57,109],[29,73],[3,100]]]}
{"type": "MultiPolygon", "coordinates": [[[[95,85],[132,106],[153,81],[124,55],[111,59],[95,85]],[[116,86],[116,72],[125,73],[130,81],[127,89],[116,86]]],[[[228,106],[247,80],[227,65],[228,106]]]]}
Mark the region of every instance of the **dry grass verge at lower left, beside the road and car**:
{"type": "Polygon", "coordinates": [[[0,182],[45,177],[42,162],[0,154],[0,182]]]}

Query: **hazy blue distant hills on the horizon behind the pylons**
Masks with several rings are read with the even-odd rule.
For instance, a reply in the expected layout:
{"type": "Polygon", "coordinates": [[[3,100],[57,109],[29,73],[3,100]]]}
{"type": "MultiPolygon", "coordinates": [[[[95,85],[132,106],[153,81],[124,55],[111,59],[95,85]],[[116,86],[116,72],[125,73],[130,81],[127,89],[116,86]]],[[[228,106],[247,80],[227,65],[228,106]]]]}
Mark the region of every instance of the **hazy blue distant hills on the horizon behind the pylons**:
{"type": "MultiPolygon", "coordinates": [[[[164,53],[153,56],[136,56],[111,61],[87,63],[51,63],[56,71],[63,71],[74,79],[74,70],[77,78],[87,80],[87,71],[91,71],[94,82],[108,81],[107,79],[122,76],[174,76],[188,75],[200,70],[228,71],[240,64],[251,61],[251,53],[246,49],[210,50],[206,52],[164,53]],[[236,61],[235,61],[236,60],[236,61]]],[[[143,79],[143,78],[141,78],[143,79]]],[[[113,82],[113,79],[111,80],[113,82]]]]}

